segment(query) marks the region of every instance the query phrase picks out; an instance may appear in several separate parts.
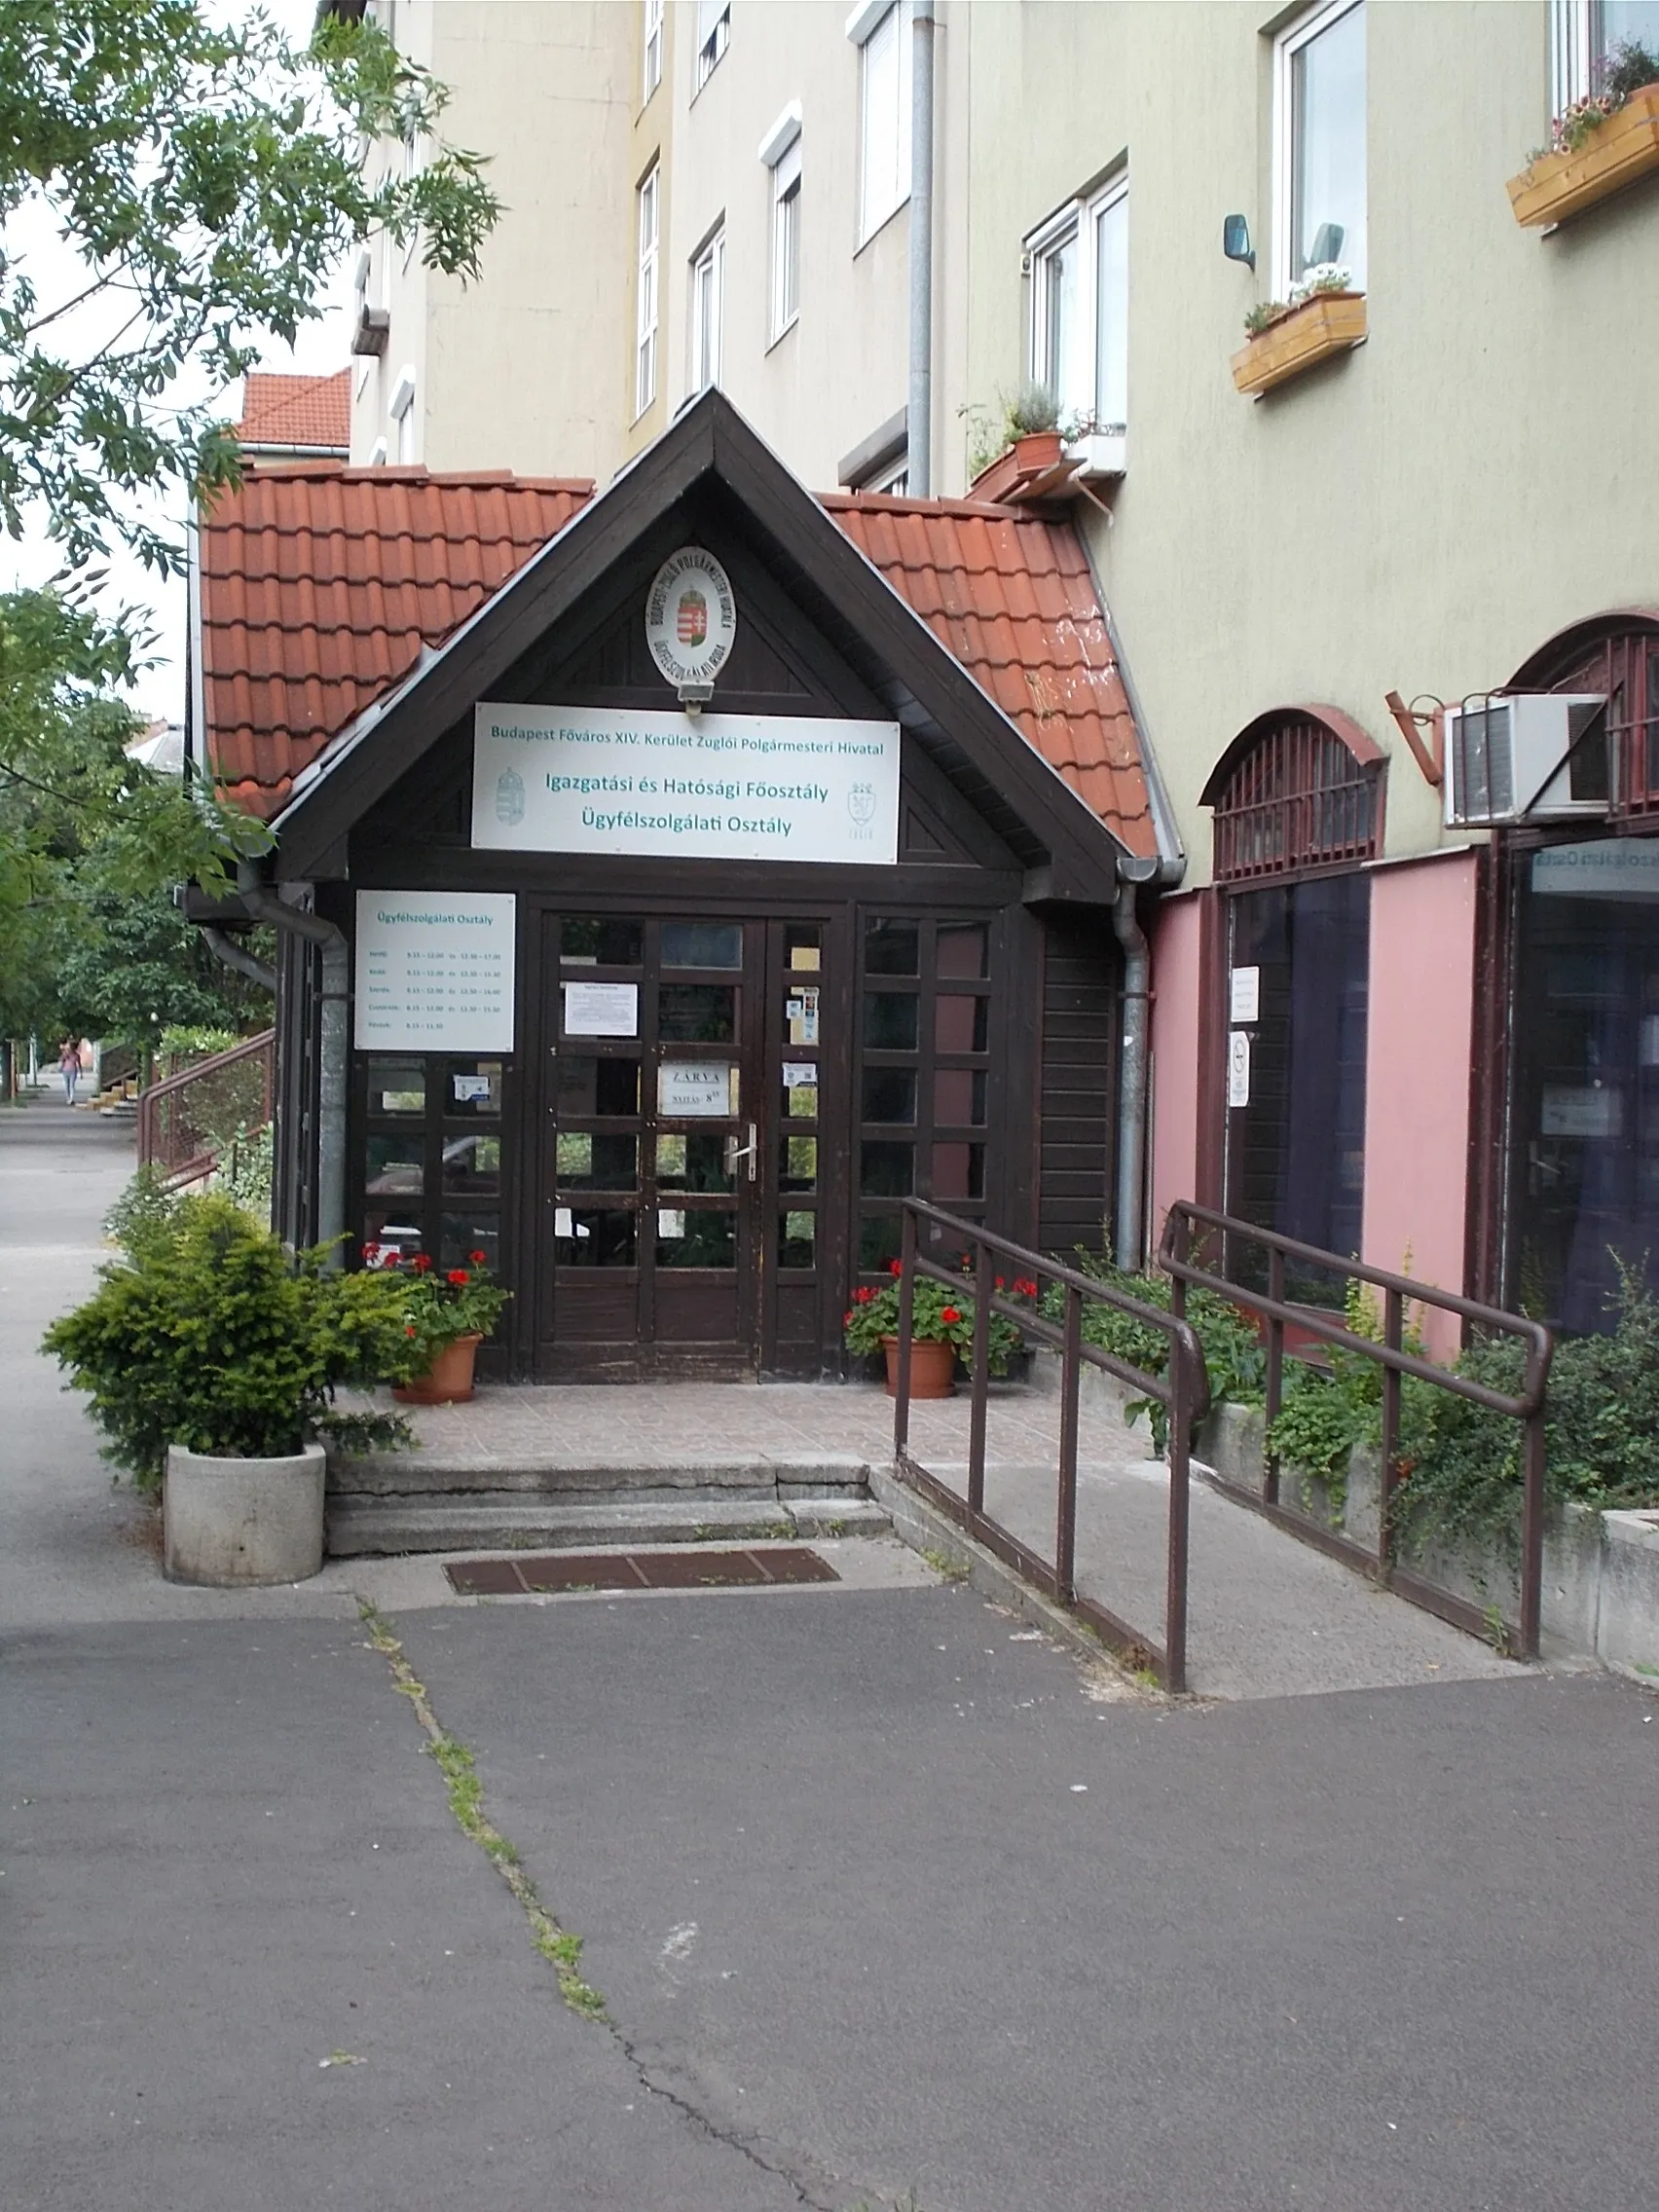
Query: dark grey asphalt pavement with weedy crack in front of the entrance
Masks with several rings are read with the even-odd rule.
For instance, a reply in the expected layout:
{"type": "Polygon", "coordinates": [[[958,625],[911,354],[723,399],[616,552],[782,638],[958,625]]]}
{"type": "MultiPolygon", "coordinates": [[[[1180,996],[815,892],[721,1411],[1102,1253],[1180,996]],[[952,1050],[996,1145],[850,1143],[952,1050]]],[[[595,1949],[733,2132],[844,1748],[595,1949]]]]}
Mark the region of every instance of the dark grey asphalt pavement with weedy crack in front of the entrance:
{"type": "Polygon", "coordinates": [[[0,2205],[1650,2212],[1659,1703],[1170,1705],[971,1588],[159,1579],[33,1356],[126,1133],[0,1113],[0,2205]],[[909,2194],[914,2192],[914,2197],[909,2194]]]}

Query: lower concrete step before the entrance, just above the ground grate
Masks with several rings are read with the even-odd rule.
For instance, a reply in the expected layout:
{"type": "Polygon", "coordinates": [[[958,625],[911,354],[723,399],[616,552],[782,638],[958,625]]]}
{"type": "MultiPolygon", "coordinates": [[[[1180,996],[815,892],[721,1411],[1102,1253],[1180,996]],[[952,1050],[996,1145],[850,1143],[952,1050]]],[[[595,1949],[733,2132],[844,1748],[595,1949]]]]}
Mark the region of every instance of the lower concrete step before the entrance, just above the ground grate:
{"type": "Polygon", "coordinates": [[[327,1551],[334,1559],[407,1551],[637,1551],[653,1544],[748,1544],[761,1537],[883,1535],[885,1506],[849,1491],[677,1500],[560,1498],[522,1491],[425,1495],[330,1495],[327,1551]]]}

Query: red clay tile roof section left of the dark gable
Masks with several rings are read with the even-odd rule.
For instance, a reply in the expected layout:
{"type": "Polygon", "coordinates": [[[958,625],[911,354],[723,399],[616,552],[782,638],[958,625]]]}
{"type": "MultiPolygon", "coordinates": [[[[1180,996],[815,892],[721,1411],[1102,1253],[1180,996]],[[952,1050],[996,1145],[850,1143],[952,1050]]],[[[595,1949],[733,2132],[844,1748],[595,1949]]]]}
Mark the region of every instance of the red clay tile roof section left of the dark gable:
{"type": "Polygon", "coordinates": [[[201,522],[201,679],[219,787],[294,776],[593,498],[507,471],[250,469],[201,522]]]}

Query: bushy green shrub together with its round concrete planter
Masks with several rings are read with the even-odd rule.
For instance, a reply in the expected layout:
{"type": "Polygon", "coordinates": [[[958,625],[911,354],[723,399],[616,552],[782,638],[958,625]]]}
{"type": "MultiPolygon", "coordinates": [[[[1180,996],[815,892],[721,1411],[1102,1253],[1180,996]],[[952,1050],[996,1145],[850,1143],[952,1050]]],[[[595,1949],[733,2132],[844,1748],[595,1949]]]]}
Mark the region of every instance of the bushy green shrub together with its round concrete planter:
{"type": "Polygon", "coordinates": [[[164,1571],[217,1588],[303,1582],[323,1564],[323,1438],[414,1442],[336,1389],[409,1374],[398,1285],[292,1259],[221,1194],[128,1206],[124,1256],[42,1349],[91,1394],[106,1455],[161,1489],[164,1571]]]}

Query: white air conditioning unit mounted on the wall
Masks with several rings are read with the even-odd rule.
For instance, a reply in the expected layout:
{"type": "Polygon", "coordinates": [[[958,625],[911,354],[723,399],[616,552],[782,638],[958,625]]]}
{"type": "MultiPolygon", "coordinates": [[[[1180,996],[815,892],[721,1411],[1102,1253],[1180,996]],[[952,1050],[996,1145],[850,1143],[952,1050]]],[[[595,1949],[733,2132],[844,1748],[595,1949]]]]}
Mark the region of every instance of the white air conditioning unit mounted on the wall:
{"type": "Polygon", "coordinates": [[[1606,814],[1601,692],[1511,692],[1447,708],[1447,827],[1606,814]]]}

